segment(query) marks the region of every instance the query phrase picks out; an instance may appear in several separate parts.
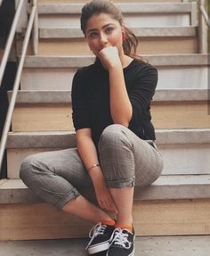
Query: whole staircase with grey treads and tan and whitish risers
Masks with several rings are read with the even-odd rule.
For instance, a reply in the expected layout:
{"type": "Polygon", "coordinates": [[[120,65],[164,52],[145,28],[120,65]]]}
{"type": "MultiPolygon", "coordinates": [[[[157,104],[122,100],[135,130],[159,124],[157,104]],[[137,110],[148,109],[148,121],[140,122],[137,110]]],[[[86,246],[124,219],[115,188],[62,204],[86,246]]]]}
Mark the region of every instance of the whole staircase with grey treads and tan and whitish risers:
{"type": "MultiPolygon", "coordinates": [[[[79,30],[82,4],[75,2],[38,1],[39,53],[31,56],[28,48],[7,143],[8,178],[0,180],[2,240],[85,237],[92,226],[41,202],[19,179],[20,162],[29,154],[76,146],[71,82],[94,57],[79,30]]],[[[139,53],[159,74],[151,111],[165,168],[154,184],[135,189],[136,233],[209,235],[207,54],[198,54],[197,5],[118,2],[140,38],[139,53]]]]}

